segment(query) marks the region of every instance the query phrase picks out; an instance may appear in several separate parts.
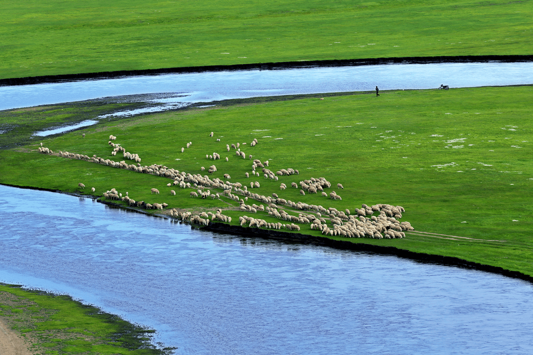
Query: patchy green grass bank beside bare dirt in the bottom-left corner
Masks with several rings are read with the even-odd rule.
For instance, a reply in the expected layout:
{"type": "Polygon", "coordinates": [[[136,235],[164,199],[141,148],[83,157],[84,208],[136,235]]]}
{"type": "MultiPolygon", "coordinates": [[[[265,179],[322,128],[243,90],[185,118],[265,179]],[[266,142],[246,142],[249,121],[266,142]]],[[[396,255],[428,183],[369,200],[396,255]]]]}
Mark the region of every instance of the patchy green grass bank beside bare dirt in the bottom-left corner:
{"type": "Polygon", "coordinates": [[[150,333],[86,306],[69,296],[0,284],[0,317],[31,345],[32,353],[47,354],[166,354],[156,349],[150,333]]]}

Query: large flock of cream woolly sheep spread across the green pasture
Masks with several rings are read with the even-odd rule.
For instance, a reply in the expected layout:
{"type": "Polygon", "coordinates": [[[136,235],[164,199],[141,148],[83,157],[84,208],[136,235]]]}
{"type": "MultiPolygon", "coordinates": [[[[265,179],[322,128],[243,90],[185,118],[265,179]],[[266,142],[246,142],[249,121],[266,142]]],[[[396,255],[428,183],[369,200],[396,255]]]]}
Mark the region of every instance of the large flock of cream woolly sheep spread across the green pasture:
{"type": "MultiPolygon", "coordinates": [[[[210,134],[213,137],[213,132],[210,134]]],[[[285,228],[287,230],[296,230],[300,231],[300,226],[295,224],[309,224],[311,229],[320,230],[322,234],[331,235],[331,236],[344,236],[344,237],[369,237],[369,238],[403,238],[405,237],[404,230],[414,230],[409,222],[399,222],[398,219],[402,217],[402,213],[405,210],[401,206],[393,206],[389,204],[376,204],[368,206],[362,204],[361,208],[356,208],[351,214],[350,210],[346,209],[344,211],[338,211],[335,208],[324,208],[321,205],[306,204],[304,202],[293,202],[290,200],[285,200],[276,193],[272,193],[272,196],[265,196],[253,193],[248,189],[247,185],[243,185],[239,182],[230,183],[231,176],[229,174],[224,174],[223,179],[220,178],[210,178],[207,175],[202,176],[201,174],[189,174],[184,171],[179,171],[173,168],[167,168],[159,164],[152,164],[150,166],[141,166],[141,158],[138,154],[131,154],[126,152],[120,144],[115,144],[111,141],[115,141],[116,136],[110,135],[108,144],[113,147],[111,152],[112,156],[115,156],[118,152],[122,152],[125,159],[135,160],[137,163],[127,164],[125,161],[115,162],[109,159],[99,158],[96,155],[89,157],[83,154],[61,152],[59,151],[59,156],[64,158],[71,159],[82,159],[87,161],[92,161],[106,166],[111,166],[115,168],[128,169],[143,174],[151,174],[156,176],[161,176],[165,178],[172,179],[172,183],[166,184],[167,187],[179,186],[180,188],[193,188],[195,191],[189,193],[190,197],[201,197],[206,199],[211,197],[212,199],[219,199],[221,194],[212,193],[209,188],[213,189],[222,189],[223,195],[228,197],[233,201],[238,201],[240,203],[239,210],[242,212],[252,212],[257,213],[267,212],[270,217],[278,218],[284,221],[290,222],[289,224],[282,224],[281,222],[267,222],[260,218],[253,218],[247,216],[239,217],[239,224],[241,226],[247,225],[247,227],[257,227],[257,228],[272,228],[272,229],[281,229],[285,228]],[[243,199],[244,197],[244,199],[243,199]],[[249,205],[246,204],[248,199],[253,199],[259,201],[263,204],[256,205],[255,203],[249,205]],[[284,205],[291,209],[302,210],[302,211],[312,211],[310,214],[298,214],[294,216],[287,213],[286,211],[279,209],[278,205],[284,205]],[[375,215],[377,214],[377,216],[375,215]],[[328,225],[329,222],[329,225],[328,225]]],[[[220,139],[217,139],[220,141],[220,139]]],[[[255,146],[258,143],[257,139],[254,139],[251,146],[255,146]]],[[[192,145],[192,142],[187,143],[187,148],[192,145]]],[[[246,145],[246,143],[243,143],[246,145]]],[[[231,148],[236,150],[236,155],[246,159],[246,154],[240,150],[240,144],[237,143],[226,145],[227,151],[230,151],[231,148]]],[[[49,148],[41,147],[38,148],[40,153],[53,154],[49,148]]],[[[182,148],[182,152],[184,148],[182,148]]],[[[252,160],[253,156],[249,155],[249,159],[252,160]]],[[[206,159],[220,160],[220,154],[213,152],[213,154],[206,154],[206,159]]],[[[228,158],[225,158],[228,161],[228,158]]],[[[261,162],[258,159],[253,160],[252,164],[252,176],[259,177],[259,172],[256,172],[256,169],[261,169],[263,172],[263,177],[265,179],[278,180],[278,176],[290,176],[298,175],[299,172],[296,169],[280,169],[278,171],[271,171],[268,169],[269,161],[266,160],[261,162]]],[[[205,171],[204,167],[200,168],[201,171],[205,171]]],[[[215,165],[210,166],[207,169],[207,172],[212,175],[217,171],[215,165]]],[[[245,173],[245,177],[249,178],[250,174],[245,173]]],[[[259,188],[261,185],[259,181],[251,181],[249,183],[249,188],[259,188]]],[[[338,189],[344,189],[342,184],[336,185],[338,189]]],[[[78,184],[79,188],[85,188],[83,183],[78,184]]],[[[332,200],[342,200],[335,191],[326,193],[324,190],[331,188],[332,184],[323,177],[319,178],[310,178],[299,183],[291,183],[292,188],[300,188],[300,194],[305,196],[305,193],[317,194],[321,193],[322,196],[329,196],[332,200]]],[[[284,191],[287,188],[287,185],[284,183],[280,184],[280,191],[284,191]]],[[[92,192],[95,192],[94,187],[91,189],[92,192]]],[[[157,188],[151,189],[152,194],[159,194],[157,188]]],[[[176,192],[171,189],[169,191],[171,195],[175,195],[176,192]]],[[[112,200],[122,200],[130,206],[144,208],[144,209],[158,209],[163,210],[168,205],[166,203],[146,203],[144,201],[135,201],[128,196],[128,193],[123,196],[122,193],[118,193],[115,188],[112,188],[109,191],[103,193],[104,199],[112,200]]],[[[212,212],[202,212],[199,215],[192,214],[191,212],[178,212],[176,209],[169,211],[169,216],[173,219],[189,221],[191,224],[198,224],[202,226],[207,226],[209,220],[211,221],[221,221],[221,222],[231,222],[231,217],[224,216],[222,210],[217,210],[216,213],[212,212]]]]}

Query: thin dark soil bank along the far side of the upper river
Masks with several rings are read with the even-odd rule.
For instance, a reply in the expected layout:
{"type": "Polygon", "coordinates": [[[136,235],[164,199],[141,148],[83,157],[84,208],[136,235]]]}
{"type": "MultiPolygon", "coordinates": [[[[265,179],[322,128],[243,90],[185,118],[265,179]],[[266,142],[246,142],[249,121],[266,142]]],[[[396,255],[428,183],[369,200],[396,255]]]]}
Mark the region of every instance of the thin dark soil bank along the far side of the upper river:
{"type": "Polygon", "coordinates": [[[143,70],[103,71],[95,73],[45,75],[38,77],[0,79],[0,86],[41,84],[43,82],[76,81],[85,79],[109,79],[126,76],[159,75],[166,73],[198,73],[205,71],[274,70],[306,67],[344,67],[376,64],[428,64],[428,63],[473,63],[473,62],[530,62],[533,55],[457,55],[435,57],[389,57],[367,59],[317,60],[297,62],[271,62],[233,65],[206,65],[204,67],[179,67],[143,70]]]}

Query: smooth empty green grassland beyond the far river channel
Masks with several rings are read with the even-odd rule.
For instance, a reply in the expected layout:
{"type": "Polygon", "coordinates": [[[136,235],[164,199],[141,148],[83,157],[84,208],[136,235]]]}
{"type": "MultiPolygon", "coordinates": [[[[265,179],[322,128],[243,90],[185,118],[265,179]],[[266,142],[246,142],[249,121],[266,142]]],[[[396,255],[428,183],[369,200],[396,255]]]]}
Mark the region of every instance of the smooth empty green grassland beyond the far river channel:
{"type": "Polygon", "coordinates": [[[531,0],[7,2],[0,79],[202,65],[532,54],[531,0]]]}

